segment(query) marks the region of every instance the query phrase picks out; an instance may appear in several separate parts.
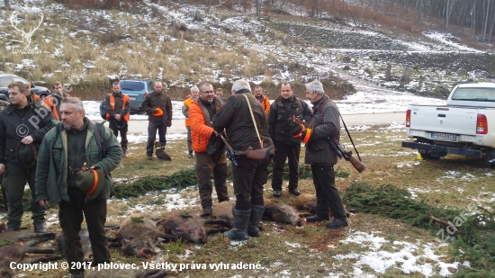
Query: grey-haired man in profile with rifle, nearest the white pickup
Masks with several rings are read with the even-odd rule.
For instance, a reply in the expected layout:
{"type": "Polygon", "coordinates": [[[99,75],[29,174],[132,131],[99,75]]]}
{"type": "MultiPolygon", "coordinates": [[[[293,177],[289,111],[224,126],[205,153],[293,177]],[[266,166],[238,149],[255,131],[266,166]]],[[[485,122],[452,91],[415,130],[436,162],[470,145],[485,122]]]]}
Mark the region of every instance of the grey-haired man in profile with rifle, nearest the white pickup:
{"type": "Polygon", "coordinates": [[[306,85],[306,97],[313,104],[308,128],[297,125],[292,130],[295,142],[306,143],[305,163],[311,165],[313,184],[316,190],[316,214],[306,219],[308,222],[329,220],[329,210],[334,219],[327,224],[330,229],[346,227],[347,218],[342,199],[335,186],[333,166],[337,164],[337,154],[330,148],[329,139],[340,139],[340,119],[338,107],[330,101],[317,80],[306,85]]]}

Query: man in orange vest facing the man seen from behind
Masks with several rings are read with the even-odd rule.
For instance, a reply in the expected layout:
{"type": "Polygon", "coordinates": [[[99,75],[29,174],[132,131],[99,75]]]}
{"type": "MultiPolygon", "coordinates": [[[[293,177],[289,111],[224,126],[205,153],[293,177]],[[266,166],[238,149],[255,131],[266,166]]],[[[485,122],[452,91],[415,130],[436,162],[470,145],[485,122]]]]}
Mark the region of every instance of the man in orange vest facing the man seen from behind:
{"type": "Polygon", "coordinates": [[[191,133],[193,149],[196,153],[196,173],[198,175],[198,190],[201,198],[202,210],[205,215],[211,214],[211,173],[219,202],[229,201],[227,193],[227,157],[225,146],[208,153],[207,146],[210,138],[216,138],[218,133],[211,127],[211,119],[217,113],[220,103],[214,96],[213,86],[202,83],[197,102],[191,103],[189,117],[191,119],[191,133]]]}

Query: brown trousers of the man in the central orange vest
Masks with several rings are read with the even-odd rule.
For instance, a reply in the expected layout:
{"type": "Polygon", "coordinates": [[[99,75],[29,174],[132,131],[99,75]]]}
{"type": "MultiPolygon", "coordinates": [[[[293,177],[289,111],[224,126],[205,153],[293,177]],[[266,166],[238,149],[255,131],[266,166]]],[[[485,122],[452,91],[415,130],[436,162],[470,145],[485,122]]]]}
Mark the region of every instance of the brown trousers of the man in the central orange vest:
{"type": "Polygon", "coordinates": [[[212,205],[211,173],[213,173],[213,182],[219,202],[229,201],[229,194],[227,193],[227,157],[225,152],[213,155],[205,152],[196,153],[196,173],[198,175],[198,190],[203,209],[212,205]]]}

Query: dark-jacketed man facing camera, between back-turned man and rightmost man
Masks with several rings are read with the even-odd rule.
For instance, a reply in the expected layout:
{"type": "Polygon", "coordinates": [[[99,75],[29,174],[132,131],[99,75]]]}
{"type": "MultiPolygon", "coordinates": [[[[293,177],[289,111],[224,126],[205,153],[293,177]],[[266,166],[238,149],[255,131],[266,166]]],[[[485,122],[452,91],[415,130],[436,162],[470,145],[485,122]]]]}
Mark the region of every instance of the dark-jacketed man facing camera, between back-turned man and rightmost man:
{"type": "Polygon", "coordinates": [[[296,116],[303,121],[310,121],[311,111],[308,104],[294,95],[293,86],[283,83],[280,95],[270,106],[268,112],[268,132],[275,144],[274,173],[272,175],[272,189],[274,196],[280,197],[284,176],[285,159],[289,157],[289,193],[299,196],[299,154],[301,143],[293,142],[291,135],[290,118],[296,116]]]}

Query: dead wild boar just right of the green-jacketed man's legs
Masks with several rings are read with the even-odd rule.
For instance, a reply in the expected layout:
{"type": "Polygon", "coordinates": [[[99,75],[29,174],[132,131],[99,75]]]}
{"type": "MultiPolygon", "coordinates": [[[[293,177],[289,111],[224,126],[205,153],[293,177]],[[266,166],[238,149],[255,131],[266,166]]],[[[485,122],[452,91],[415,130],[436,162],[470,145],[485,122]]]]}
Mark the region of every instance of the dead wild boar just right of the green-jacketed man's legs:
{"type": "Polygon", "coordinates": [[[174,237],[157,229],[157,220],[160,219],[153,218],[146,213],[132,214],[124,219],[117,232],[123,253],[148,258],[159,251],[158,238],[166,241],[174,240],[174,237]]]}

